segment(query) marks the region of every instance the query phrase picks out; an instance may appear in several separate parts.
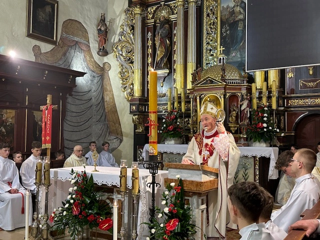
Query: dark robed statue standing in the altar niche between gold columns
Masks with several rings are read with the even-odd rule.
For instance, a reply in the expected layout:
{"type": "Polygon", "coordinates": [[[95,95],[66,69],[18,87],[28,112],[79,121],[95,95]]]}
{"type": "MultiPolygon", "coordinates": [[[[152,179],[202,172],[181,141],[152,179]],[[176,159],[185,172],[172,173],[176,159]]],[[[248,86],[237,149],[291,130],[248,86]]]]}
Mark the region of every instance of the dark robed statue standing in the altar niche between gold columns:
{"type": "Polygon", "coordinates": [[[168,56],[171,51],[171,27],[170,19],[166,18],[164,15],[159,17],[160,24],[155,30],[154,42],[156,45],[154,68],[164,69],[169,68],[168,56]]]}

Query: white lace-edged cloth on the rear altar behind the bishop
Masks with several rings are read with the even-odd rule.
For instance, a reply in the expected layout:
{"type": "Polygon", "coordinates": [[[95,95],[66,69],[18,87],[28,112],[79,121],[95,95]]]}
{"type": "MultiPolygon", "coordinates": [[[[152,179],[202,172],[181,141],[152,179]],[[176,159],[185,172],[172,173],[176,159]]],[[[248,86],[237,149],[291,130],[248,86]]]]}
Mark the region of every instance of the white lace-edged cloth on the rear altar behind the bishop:
{"type": "MultiPolygon", "coordinates": [[[[256,157],[270,157],[270,164],[268,170],[268,180],[276,179],[279,176],[279,172],[274,170],[275,161],[278,158],[279,149],[277,147],[256,147],[256,146],[238,146],[240,149],[240,156],[256,156],[256,157]]],[[[145,144],[142,150],[142,156],[146,157],[149,144],[145,144]]],[[[188,145],[187,144],[157,144],[158,152],[167,152],[175,154],[185,154],[188,145]]]]}

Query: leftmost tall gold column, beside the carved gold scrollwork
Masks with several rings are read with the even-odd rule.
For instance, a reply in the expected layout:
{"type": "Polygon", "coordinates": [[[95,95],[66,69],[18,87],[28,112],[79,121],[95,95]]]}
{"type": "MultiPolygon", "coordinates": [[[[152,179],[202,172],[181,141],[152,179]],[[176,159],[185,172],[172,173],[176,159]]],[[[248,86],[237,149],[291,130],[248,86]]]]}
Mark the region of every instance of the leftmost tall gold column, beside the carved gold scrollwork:
{"type": "Polygon", "coordinates": [[[134,12],[134,62],[133,62],[133,95],[142,96],[142,37],[141,15],[143,8],[140,5],[132,7],[134,12]]]}

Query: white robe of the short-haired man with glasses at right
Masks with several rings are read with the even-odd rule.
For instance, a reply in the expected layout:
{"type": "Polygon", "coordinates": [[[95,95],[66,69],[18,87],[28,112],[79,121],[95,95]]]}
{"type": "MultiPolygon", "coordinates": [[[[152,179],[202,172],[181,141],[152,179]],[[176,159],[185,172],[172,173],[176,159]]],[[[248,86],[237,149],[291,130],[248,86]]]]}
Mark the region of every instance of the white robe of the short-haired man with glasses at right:
{"type": "Polygon", "coordinates": [[[295,179],[295,185],[288,201],[271,214],[271,219],[278,227],[288,232],[288,227],[301,220],[300,214],[310,209],[320,198],[320,182],[311,173],[295,179]]]}

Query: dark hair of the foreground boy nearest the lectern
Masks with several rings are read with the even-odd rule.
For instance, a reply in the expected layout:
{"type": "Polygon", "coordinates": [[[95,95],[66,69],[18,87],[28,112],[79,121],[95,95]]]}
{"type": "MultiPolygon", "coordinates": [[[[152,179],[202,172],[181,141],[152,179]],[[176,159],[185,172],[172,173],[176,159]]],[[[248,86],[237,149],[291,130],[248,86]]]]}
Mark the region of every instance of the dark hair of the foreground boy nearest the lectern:
{"type": "Polygon", "coordinates": [[[260,186],[253,181],[243,181],[231,185],[228,195],[241,215],[249,221],[257,222],[264,207],[265,197],[260,186]]]}

